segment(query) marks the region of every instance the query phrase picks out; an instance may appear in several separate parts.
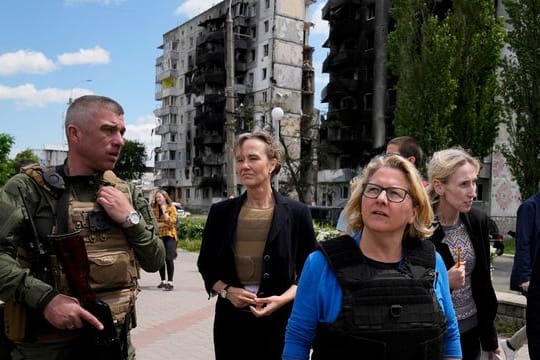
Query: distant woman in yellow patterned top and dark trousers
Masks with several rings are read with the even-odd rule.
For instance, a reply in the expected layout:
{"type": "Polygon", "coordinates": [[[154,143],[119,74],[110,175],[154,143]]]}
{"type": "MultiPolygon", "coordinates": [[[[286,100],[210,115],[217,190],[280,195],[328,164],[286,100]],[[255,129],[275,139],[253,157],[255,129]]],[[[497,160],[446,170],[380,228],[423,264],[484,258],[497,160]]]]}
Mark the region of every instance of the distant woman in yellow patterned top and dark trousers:
{"type": "Polygon", "coordinates": [[[159,237],[165,245],[165,264],[159,269],[161,282],[159,289],[171,291],[174,288],[174,259],[177,255],[176,248],[176,207],[173,205],[169,194],[165,190],[158,190],[152,202],[152,210],[158,222],[159,237]],[[167,275],[165,277],[165,275],[167,275]]]}

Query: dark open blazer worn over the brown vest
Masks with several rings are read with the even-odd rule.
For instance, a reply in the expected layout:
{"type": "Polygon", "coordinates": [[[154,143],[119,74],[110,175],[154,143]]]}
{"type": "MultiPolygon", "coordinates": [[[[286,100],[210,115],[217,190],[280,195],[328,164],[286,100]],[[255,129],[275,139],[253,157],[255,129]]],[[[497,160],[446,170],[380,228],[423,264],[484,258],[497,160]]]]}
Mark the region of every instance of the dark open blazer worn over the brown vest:
{"type": "MultiPolygon", "coordinates": [[[[242,196],[212,205],[203,232],[197,266],[206,291],[218,280],[234,287],[242,284],[236,273],[234,245],[242,196]]],[[[263,253],[259,297],[281,295],[298,280],[304,262],[317,246],[309,208],[274,191],[275,207],[263,253]]],[[[219,302],[219,301],[218,301],[219,302]]]]}

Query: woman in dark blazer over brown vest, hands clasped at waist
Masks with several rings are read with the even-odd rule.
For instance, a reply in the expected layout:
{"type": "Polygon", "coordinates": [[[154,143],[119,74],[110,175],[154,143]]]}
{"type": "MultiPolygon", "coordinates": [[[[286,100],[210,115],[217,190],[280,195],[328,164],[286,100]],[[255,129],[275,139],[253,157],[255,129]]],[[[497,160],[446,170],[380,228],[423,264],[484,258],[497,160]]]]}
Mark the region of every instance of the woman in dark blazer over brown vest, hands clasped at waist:
{"type": "Polygon", "coordinates": [[[281,154],[270,134],[240,135],[234,154],[246,190],[212,205],[197,260],[206,291],[218,295],[215,357],[278,360],[315,231],[309,208],[272,188],[281,154]]]}

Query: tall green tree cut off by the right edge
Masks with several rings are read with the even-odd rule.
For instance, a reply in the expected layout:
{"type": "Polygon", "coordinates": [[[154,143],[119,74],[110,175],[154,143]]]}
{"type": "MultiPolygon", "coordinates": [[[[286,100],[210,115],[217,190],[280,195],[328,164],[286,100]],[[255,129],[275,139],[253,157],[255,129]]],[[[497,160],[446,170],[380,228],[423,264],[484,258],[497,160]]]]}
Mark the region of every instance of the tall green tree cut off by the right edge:
{"type": "Polygon", "coordinates": [[[526,199],[538,191],[540,179],[540,3],[503,3],[511,26],[502,71],[508,143],[499,150],[526,199]]]}

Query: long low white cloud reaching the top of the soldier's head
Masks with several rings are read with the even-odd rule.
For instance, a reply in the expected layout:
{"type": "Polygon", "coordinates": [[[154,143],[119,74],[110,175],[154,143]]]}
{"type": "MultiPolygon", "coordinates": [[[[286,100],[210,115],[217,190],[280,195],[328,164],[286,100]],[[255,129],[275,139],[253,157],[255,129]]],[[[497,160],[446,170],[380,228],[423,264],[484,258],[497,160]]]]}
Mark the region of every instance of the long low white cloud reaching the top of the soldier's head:
{"type": "Polygon", "coordinates": [[[38,90],[33,84],[15,87],[0,85],[0,101],[14,101],[20,107],[44,107],[51,103],[67,104],[70,97],[77,98],[86,94],[92,94],[92,91],[82,88],[38,90]]]}

